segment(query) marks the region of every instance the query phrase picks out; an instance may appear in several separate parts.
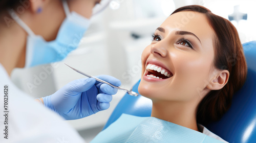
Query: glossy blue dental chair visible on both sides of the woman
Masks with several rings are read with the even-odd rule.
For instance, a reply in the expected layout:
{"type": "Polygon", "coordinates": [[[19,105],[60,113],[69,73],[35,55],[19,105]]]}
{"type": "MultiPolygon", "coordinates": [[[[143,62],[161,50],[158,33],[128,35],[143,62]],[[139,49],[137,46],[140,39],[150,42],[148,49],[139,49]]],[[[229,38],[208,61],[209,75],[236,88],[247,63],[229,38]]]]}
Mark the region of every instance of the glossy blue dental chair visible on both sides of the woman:
{"type": "MultiPolygon", "coordinates": [[[[248,74],[244,86],[237,91],[230,109],[220,121],[206,126],[228,142],[256,142],[256,41],[243,44],[248,74]]],[[[133,89],[138,93],[138,81],[133,89]]],[[[139,95],[125,94],[116,106],[103,130],[115,122],[122,113],[151,116],[152,101],[139,95]]]]}

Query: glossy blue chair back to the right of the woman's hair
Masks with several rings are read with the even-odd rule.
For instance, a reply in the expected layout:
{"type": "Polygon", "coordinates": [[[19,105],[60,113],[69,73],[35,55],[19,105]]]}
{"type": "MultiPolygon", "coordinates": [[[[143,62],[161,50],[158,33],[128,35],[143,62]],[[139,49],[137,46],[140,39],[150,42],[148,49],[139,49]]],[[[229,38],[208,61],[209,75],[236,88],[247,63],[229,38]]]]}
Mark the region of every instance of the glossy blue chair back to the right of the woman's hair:
{"type": "Polygon", "coordinates": [[[248,74],[230,109],[207,128],[229,142],[256,142],[256,41],[243,44],[248,74]]]}

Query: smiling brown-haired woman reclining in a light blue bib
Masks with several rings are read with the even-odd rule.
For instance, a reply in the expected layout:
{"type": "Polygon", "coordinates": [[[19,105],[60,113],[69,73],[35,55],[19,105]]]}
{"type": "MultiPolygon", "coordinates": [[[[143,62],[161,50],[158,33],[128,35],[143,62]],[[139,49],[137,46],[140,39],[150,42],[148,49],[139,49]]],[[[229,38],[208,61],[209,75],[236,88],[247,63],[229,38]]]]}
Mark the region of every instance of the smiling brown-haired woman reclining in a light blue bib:
{"type": "MultiPolygon", "coordinates": [[[[190,140],[186,141],[193,142],[195,138],[192,136],[199,132],[225,142],[201,124],[219,120],[230,107],[233,93],[246,79],[243,47],[231,22],[201,6],[181,7],[157,28],[152,43],[145,48],[141,58],[142,77],[138,90],[152,100],[149,118],[155,120],[130,118],[131,122],[123,123],[126,127],[114,128],[114,124],[122,123],[121,116],[94,141],[106,132],[115,135],[115,129],[118,133],[129,127],[122,132],[124,136],[109,136],[104,138],[105,142],[115,142],[117,138],[120,141],[120,136],[127,142],[143,137],[147,141],[164,142],[172,132],[180,132],[180,129],[188,132],[173,136],[180,140],[178,142],[189,135],[190,140]],[[148,126],[154,126],[154,129],[148,126]],[[167,132],[165,128],[168,128],[167,132]]],[[[200,141],[212,140],[203,138],[200,141]]]]}

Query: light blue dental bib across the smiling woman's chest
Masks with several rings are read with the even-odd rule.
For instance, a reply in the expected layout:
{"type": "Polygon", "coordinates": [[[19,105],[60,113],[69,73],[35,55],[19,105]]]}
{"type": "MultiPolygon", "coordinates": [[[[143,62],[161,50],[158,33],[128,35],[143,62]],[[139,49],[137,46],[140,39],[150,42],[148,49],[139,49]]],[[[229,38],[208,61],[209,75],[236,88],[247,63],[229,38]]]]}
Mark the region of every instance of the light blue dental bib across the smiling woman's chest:
{"type": "Polygon", "coordinates": [[[122,114],[116,122],[101,131],[91,142],[221,143],[222,141],[156,117],[122,114]]]}

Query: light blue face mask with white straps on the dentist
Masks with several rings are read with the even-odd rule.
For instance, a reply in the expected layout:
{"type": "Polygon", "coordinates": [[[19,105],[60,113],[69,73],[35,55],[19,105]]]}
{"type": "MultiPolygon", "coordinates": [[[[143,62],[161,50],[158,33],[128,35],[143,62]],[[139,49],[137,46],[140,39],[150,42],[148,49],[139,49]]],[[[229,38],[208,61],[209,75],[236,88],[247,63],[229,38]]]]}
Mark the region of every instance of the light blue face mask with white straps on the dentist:
{"type": "Polygon", "coordinates": [[[67,17],[62,22],[56,39],[49,42],[42,36],[35,35],[14,11],[9,11],[12,18],[28,33],[25,67],[61,61],[78,47],[90,21],[74,11],[70,13],[67,1],[62,3],[67,17]]]}

